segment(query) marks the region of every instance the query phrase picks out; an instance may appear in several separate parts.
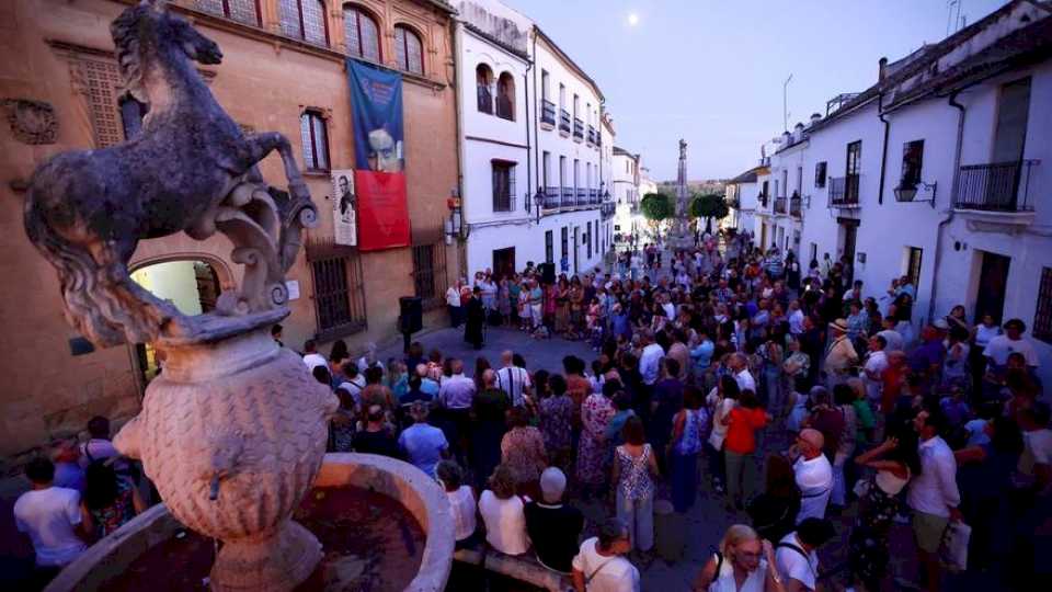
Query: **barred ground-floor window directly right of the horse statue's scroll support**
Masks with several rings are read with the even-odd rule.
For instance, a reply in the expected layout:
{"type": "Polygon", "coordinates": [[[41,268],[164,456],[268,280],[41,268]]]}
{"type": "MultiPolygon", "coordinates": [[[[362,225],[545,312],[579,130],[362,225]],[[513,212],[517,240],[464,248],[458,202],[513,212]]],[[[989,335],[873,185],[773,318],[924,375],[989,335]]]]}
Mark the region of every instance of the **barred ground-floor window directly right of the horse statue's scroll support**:
{"type": "Polygon", "coordinates": [[[329,239],[308,242],[306,254],[313,281],[317,339],[331,341],[365,330],[365,283],[357,249],[329,239]]]}

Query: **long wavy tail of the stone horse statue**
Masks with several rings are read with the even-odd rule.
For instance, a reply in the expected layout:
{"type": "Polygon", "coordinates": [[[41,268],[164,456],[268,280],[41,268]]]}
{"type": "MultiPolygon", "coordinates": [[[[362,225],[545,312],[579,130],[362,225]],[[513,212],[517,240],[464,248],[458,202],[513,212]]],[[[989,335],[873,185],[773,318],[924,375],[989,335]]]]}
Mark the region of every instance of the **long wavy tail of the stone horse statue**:
{"type": "Polygon", "coordinates": [[[42,205],[30,185],[24,212],[25,234],[45,259],[58,271],[58,281],[66,308],[66,319],[82,335],[100,346],[124,342],[122,328],[100,314],[94,297],[101,288],[98,269],[91,253],[62,240],[48,224],[42,205]]]}

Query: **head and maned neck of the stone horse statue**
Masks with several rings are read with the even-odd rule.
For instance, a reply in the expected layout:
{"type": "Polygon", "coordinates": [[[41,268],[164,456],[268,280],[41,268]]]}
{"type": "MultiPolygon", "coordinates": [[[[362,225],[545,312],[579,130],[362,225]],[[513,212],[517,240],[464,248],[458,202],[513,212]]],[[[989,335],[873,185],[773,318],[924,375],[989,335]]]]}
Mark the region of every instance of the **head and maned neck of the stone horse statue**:
{"type": "Polygon", "coordinates": [[[110,33],[125,88],[144,102],[148,98],[142,77],[151,66],[173,66],[186,58],[201,64],[222,60],[219,45],[170,13],[164,0],[142,0],[129,7],[113,21],[110,33]]]}

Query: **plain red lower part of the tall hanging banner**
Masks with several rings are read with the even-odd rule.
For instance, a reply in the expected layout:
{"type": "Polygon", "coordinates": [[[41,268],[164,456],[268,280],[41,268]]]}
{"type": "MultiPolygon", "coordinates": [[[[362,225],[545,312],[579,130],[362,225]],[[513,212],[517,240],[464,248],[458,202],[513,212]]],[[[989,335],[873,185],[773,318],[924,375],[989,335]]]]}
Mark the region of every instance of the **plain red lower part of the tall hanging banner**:
{"type": "Polygon", "coordinates": [[[356,170],[354,184],[358,194],[358,249],[409,247],[405,174],[356,170]]]}

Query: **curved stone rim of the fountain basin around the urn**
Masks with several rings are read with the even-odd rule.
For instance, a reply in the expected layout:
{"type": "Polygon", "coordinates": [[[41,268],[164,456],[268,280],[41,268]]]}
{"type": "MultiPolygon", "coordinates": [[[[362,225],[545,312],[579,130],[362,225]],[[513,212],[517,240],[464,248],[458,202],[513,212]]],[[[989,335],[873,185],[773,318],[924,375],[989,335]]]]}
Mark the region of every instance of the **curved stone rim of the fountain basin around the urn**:
{"type": "MultiPolygon", "coordinates": [[[[404,590],[437,592],[445,588],[453,562],[453,517],[445,493],[433,479],[412,465],[385,456],[327,454],[301,508],[311,506],[317,500],[323,500],[327,492],[339,492],[341,489],[365,490],[382,496],[400,505],[423,531],[425,539],[422,553],[418,551],[419,568],[404,590]]],[[[159,545],[170,544],[185,530],[164,504],[155,505],[89,548],[45,590],[66,592],[119,588],[122,577],[137,560],[145,558],[151,549],[157,550],[159,545]]],[[[198,535],[191,533],[186,536],[198,535]]],[[[320,538],[324,539],[324,536],[320,538]]],[[[333,566],[330,559],[327,557],[319,571],[299,590],[324,589],[323,582],[330,579],[331,572],[341,569],[333,566]]],[[[208,567],[204,566],[203,574],[207,574],[208,567]]],[[[172,568],[179,569],[175,566],[172,568]]],[[[163,580],[165,573],[151,576],[156,580],[163,580]]],[[[346,581],[340,582],[341,588],[344,585],[346,581]]]]}

